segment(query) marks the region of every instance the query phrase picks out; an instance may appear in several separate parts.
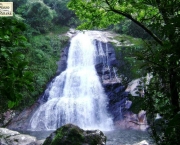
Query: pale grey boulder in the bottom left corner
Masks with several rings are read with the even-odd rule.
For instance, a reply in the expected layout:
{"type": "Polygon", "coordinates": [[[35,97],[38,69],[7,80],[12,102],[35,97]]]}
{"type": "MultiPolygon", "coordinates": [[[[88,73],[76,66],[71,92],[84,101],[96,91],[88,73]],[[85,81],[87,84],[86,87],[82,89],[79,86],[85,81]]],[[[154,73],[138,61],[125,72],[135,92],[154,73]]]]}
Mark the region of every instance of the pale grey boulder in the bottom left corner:
{"type": "Polygon", "coordinates": [[[0,145],[38,145],[36,137],[0,128],[0,145]]]}

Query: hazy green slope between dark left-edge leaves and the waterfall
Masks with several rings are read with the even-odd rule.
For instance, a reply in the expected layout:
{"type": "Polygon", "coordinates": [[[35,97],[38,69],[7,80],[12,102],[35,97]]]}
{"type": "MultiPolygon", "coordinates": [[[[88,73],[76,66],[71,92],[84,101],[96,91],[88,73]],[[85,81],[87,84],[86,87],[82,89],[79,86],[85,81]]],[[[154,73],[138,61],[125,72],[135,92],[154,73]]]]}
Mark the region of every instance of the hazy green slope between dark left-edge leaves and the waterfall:
{"type": "MultiPolygon", "coordinates": [[[[56,32],[56,31],[55,31],[56,32]]],[[[24,92],[24,96],[31,97],[31,101],[22,102],[22,107],[32,104],[45,90],[46,84],[52,79],[57,70],[56,62],[60,58],[60,51],[67,43],[62,41],[54,32],[46,35],[29,35],[29,51],[26,58],[29,62],[28,70],[34,74],[33,86],[36,90],[24,92]]]]}

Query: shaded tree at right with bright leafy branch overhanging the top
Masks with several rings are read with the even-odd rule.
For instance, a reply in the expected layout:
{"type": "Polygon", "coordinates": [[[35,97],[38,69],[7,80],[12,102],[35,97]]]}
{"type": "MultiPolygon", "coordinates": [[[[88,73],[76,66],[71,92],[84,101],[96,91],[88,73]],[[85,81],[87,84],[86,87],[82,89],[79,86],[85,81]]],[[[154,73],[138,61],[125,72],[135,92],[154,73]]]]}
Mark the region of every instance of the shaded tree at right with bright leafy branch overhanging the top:
{"type": "Polygon", "coordinates": [[[179,144],[180,124],[180,1],[179,0],[71,0],[69,8],[82,20],[80,29],[104,28],[127,18],[147,32],[154,41],[137,52],[153,74],[146,90],[144,108],[151,118],[159,112],[161,133],[151,127],[157,144],[179,144]],[[168,108],[168,109],[167,109],[168,108]],[[167,109],[167,110],[165,110],[167,109]],[[176,122],[176,125],[173,125],[176,122]],[[170,125],[171,124],[171,125],[170,125]]]}

